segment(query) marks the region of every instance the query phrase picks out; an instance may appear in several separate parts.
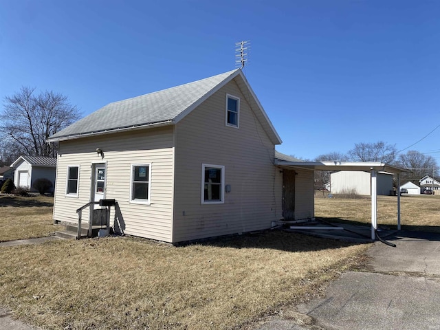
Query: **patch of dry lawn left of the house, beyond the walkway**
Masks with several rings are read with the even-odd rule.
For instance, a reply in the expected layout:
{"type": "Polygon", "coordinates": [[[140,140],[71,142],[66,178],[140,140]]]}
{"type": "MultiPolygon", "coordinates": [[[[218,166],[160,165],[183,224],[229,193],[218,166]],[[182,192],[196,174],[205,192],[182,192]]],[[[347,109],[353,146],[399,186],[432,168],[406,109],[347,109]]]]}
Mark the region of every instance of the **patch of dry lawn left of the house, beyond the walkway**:
{"type": "Polygon", "coordinates": [[[0,242],[49,236],[54,198],[0,194],[0,242]]]}

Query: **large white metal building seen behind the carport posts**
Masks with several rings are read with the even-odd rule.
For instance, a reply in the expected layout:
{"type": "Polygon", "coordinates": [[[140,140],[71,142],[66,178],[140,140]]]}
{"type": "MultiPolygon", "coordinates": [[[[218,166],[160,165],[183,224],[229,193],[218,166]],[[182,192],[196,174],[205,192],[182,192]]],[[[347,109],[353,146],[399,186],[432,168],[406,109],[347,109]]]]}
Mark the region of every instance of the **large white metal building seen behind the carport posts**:
{"type": "MultiPolygon", "coordinates": [[[[371,174],[361,170],[341,170],[330,174],[329,190],[332,194],[355,192],[371,195],[371,174]]],[[[377,172],[377,195],[391,195],[393,173],[377,172]]]]}

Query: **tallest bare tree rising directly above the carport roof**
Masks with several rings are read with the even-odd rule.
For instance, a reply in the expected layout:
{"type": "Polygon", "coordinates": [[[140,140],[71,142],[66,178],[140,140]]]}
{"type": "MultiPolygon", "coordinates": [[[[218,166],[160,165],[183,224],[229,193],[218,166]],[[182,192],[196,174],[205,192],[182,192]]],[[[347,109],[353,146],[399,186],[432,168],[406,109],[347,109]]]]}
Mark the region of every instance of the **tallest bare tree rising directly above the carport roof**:
{"type": "Polygon", "coordinates": [[[386,144],[383,141],[375,143],[357,143],[349,151],[349,156],[354,162],[382,162],[391,164],[397,154],[395,144],[386,144]]]}

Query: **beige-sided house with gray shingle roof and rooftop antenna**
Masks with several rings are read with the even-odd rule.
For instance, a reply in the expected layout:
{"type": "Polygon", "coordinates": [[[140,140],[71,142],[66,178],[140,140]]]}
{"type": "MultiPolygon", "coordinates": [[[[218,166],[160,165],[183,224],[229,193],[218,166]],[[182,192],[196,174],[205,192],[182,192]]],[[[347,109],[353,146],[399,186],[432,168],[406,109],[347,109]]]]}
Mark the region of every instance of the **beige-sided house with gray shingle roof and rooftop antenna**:
{"type": "Polygon", "coordinates": [[[289,156],[241,69],[113,102],[47,142],[55,222],[115,199],[116,231],[177,243],[314,217],[313,170],[275,165],[289,156]]]}

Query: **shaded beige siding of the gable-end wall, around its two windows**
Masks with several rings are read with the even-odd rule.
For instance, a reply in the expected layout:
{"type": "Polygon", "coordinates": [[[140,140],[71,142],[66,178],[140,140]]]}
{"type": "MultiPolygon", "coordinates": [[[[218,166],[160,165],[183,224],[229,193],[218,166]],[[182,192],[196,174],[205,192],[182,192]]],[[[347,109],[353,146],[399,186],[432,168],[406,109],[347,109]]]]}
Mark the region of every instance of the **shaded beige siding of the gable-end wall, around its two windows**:
{"type": "Polygon", "coordinates": [[[270,228],[281,213],[274,144],[249,97],[232,80],[177,124],[173,241],[270,228]],[[240,98],[239,129],[225,125],[226,94],[240,98]],[[201,203],[202,164],[225,166],[224,203],[201,203]]]}

